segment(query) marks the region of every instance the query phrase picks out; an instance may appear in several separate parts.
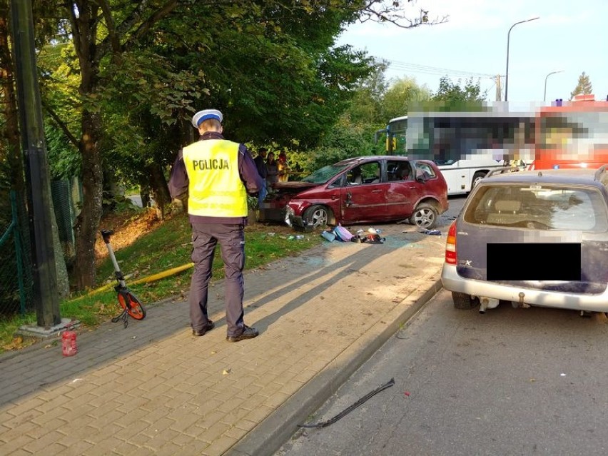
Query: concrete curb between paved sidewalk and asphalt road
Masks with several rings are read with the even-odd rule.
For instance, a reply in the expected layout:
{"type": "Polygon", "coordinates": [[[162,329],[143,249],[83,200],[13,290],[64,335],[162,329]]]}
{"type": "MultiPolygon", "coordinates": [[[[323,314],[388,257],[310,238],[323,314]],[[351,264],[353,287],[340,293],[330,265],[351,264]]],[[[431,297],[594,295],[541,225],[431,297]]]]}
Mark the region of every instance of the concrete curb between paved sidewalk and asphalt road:
{"type": "Polygon", "coordinates": [[[440,289],[441,280],[436,279],[430,286],[420,286],[407,295],[407,298],[387,315],[385,318],[387,322],[376,323],[224,455],[273,455],[299,429],[299,423],[305,422],[309,415],[318,410],[340,385],[343,385],[440,289]]]}

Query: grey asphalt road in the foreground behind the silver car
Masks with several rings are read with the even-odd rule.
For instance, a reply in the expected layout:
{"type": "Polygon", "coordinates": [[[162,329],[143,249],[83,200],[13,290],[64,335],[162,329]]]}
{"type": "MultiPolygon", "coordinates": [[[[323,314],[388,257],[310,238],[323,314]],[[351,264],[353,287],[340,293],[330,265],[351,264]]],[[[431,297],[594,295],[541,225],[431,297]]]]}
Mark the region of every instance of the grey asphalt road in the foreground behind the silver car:
{"type": "Polygon", "coordinates": [[[276,455],[606,455],[608,324],[567,310],[455,310],[442,290],[276,455]]]}

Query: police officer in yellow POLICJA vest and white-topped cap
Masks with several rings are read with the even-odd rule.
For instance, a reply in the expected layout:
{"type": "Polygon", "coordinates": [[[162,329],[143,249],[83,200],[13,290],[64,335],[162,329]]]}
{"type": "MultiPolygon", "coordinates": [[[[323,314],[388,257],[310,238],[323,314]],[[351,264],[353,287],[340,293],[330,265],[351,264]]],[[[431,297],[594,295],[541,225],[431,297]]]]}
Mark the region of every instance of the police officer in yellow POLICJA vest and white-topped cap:
{"type": "Polygon", "coordinates": [[[201,138],[179,151],[169,191],[173,198],[188,192],[194,263],[188,297],[192,334],[205,335],[214,326],[207,315],[207,296],[213,253],[219,242],[226,273],[226,340],[238,342],[258,335],[243,322],[244,227],[247,194],[258,193],[263,180],[247,148],[222,136],[222,120],[216,109],[193,116],[192,124],[201,138]]]}

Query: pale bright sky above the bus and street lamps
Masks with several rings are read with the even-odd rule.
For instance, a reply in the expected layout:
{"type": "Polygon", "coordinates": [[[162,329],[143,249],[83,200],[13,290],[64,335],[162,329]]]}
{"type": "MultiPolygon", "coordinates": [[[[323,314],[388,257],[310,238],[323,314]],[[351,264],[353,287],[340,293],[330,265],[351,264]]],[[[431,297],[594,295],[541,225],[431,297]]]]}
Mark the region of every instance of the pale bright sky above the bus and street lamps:
{"type": "MultiPolygon", "coordinates": [[[[405,0],[403,0],[405,3],[405,0]]],[[[447,23],[400,29],[366,22],[350,26],[338,44],[390,61],[387,78],[413,77],[432,91],[442,76],[480,78],[488,101],[496,99],[495,75],[502,75],[505,98],[507,34],[508,99],[511,108],[569,99],[584,71],[596,99],[608,96],[608,0],[417,0],[407,16],[428,11],[430,19],[449,16],[447,23]],[[562,73],[547,75],[552,71],[562,73]]]]}

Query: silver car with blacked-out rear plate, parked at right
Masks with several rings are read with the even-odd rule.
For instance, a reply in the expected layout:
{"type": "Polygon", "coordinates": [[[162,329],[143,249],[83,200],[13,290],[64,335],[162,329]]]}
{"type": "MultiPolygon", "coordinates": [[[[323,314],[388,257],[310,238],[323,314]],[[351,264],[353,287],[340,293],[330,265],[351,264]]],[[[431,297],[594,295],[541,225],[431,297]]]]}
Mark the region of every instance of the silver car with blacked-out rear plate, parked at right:
{"type": "Polygon", "coordinates": [[[441,280],[455,307],[607,313],[608,165],[492,174],[447,235],[441,280]]]}

